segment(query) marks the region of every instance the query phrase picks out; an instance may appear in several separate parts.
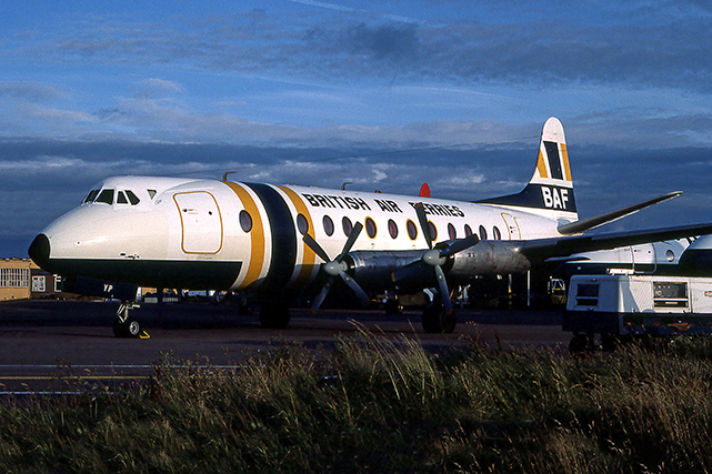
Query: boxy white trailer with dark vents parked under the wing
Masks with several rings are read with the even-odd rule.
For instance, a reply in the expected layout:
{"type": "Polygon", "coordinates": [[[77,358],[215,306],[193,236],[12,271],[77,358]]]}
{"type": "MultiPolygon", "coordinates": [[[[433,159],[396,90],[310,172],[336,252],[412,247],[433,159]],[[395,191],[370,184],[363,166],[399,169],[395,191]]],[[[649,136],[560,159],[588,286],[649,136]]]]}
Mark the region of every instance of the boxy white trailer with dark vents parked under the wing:
{"type": "Polygon", "coordinates": [[[563,315],[572,352],[604,349],[620,336],[712,333],[712,279],[661,275],[574,275],[563,315]]]}

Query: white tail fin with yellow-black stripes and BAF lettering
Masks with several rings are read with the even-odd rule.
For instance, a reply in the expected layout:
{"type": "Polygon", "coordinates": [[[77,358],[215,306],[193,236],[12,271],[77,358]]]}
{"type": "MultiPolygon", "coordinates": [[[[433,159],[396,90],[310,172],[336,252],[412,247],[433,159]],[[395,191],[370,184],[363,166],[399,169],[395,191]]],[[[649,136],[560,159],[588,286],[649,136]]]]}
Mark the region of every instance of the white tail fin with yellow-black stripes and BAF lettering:
{"type": "Polygon", "coordinates": [[[563,127],[556,118],[544,123],[539,142],[534,175],[518,194],[478,201],[515,208],[550,219],[574,222],[579,219],[563,127]]]}

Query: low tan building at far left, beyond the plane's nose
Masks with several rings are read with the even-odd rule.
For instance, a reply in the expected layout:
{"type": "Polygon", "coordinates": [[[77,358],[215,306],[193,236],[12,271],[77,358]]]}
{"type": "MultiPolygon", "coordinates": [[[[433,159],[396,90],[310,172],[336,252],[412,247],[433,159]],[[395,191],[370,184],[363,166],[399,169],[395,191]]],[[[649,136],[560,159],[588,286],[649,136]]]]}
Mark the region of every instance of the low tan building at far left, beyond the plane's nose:
{"type": "Polygon", "coordinates": [[[0,259],[0,301],[57,297],[61,292],[61,278],[30,259],[0,259]]]}

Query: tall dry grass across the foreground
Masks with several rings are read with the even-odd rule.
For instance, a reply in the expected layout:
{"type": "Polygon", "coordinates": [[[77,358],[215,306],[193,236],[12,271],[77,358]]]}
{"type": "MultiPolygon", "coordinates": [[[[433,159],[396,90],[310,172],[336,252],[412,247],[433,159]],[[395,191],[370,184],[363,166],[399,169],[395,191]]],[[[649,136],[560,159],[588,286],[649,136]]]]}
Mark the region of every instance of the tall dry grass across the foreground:
{"type": "Polygon", "coordinates": [[[2,472],[708,472],[712,344],[435,355],[362,330],[0,406],[2,472]]]}

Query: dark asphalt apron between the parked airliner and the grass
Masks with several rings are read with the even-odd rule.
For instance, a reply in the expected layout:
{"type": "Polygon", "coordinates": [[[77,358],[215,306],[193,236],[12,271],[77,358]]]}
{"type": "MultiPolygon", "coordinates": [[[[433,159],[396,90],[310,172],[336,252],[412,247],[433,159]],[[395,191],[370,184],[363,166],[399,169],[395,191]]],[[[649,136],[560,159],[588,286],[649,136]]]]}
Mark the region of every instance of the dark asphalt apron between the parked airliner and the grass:
{"type": "Polygon", "coordinates": [[[451,334],[427,334],[420,311],[292,310],[285,330],[264,330],[259,315],[209,303],[142,304],[131,311],[149,339],[114,337],[119,304],[94,301],[11,301],[0,303],[0,394],[71,393],[92,386],[117,387],[149,379],[156,364],[172,361],[234,365],[245,352],[281,342],[330,351],[341,336],[374,334],[419,340],[430,351],[467,347],[551,346],[565,351],[570,333],[558,311],[458,309],[451,334]]]}

